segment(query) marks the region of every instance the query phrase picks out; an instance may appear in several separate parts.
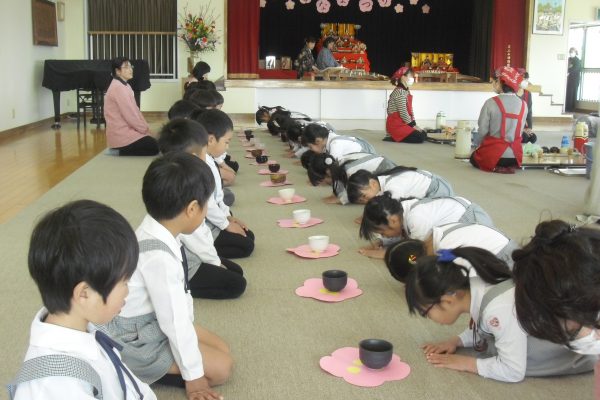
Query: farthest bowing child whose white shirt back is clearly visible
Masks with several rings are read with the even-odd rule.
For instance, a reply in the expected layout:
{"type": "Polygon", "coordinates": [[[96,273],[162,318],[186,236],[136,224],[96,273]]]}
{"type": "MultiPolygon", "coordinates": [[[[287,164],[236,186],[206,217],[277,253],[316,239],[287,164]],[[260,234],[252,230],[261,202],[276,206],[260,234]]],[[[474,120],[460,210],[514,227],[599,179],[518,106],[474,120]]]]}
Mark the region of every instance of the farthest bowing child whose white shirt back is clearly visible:
{"type": "Polygon", "coordinates": [[[310,150],[317,154],[330,154],[338,161],[350,153],[377,154],[375,148],[366,140],[354,136],[338,135],[321,123],[309,124],[304,128],[302,138],[310,150]]]}

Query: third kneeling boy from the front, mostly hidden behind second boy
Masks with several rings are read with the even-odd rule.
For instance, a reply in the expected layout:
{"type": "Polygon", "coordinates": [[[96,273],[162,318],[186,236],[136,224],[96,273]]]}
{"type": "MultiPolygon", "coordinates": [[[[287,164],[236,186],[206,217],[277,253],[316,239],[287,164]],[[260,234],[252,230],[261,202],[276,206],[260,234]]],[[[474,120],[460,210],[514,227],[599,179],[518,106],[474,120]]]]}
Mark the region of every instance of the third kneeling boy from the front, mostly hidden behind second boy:
{"type": "MultiPolygon", "coordinates": [[[[186,152],[206,161],[208,133],[193,120],[174,119],[163,126],[158,147],[162,154],[186,152]]],[[[219,257],[206,221],[190,235],[180,235],[188,258],[190,293],[194,298],[233,299],[246,290],[242,267],[219,257]]]]}

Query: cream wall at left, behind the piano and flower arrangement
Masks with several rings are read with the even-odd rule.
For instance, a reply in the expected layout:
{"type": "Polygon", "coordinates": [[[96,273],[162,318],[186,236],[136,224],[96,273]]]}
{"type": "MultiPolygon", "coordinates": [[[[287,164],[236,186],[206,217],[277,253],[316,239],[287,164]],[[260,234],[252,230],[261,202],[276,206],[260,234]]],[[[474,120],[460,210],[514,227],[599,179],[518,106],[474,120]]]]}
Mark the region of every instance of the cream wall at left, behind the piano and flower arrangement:
{"type": "MultiPolygon", "coordinates": [[[[54,0],[52,0],[54,1],[54,0]]],[[[212,0],[217,28],[223,36],[214,53],[201,59],[211,65],[209,79],[225,75],[225,1],[212,0]]],[[[36,122],[54,115],[52,92],[41,86],[44,60],[85,58],[85,0],[64,0],[65,20],[58,21],[58,47],[34,46],[30,0],[2,0],[0,13],[0,132],[36,122]],[[9,3],[9,4],[5,4],[9,3]],[[14,117],[13,117],[14,111],[14,117]]],[[[178,0],[179,13],[188,4],[194,12],[209,0],[178,0]]],[[[185,45],[179,44],[179,74],[187,76],[185,45]]],[[[181,97],[181,81],[152,82],[142,93],[143,111],[167,111],[181,97]]],[[[61,112],[75,110],[75,92],[63,92],[61,112]]]]}

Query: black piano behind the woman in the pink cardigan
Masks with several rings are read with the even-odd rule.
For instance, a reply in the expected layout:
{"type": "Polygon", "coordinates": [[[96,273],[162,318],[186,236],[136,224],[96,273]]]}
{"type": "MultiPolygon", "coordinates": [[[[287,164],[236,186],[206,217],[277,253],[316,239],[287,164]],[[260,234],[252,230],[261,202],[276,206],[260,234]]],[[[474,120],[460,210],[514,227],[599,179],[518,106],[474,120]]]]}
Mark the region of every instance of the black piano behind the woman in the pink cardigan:
{"type": "MultiPolygon", "coordinates": [[[[140,106],[140,93],[150,88],[150,66],[146,60],[131,60],[133,79],[128,83],[140,106]]],[[[54,124],[60,128],[60,92],[84,89],[104,93],[112,81],[111,60],[46,60],[42,86],[52,90],[54,124]]]]}

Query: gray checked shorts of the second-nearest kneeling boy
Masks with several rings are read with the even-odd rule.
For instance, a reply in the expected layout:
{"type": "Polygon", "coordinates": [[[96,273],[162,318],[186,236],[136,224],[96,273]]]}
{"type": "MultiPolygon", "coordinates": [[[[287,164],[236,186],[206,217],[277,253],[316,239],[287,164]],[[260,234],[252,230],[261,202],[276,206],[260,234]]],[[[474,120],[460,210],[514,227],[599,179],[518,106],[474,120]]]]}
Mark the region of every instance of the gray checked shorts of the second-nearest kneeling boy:
{"type": "Polygon", "coordinates": [[[160,330],[155,313],[132,318],[117,316],[105,328],[123,345],[123,362],[143,382],[156,382],[175,362],[169,339],[160,330]]]}

